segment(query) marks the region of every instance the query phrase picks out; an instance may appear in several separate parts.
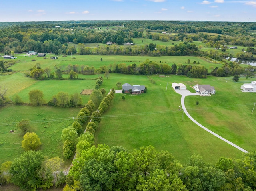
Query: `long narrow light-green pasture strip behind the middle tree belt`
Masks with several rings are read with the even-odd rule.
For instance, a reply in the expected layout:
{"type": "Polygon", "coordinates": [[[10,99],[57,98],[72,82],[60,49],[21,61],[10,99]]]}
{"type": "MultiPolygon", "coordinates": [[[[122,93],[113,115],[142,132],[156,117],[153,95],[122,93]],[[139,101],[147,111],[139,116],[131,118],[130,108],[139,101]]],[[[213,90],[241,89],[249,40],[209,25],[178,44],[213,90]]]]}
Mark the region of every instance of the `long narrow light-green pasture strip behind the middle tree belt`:
{"type": "MultiPolygon", "coordinates": [[[[62,67],[65,69],[66,66],[69,64],[72,65],[88,65],[89,67],[99,68],[101,66],[109,66],[110,64],[120,64],[120,63],[126,63],[126,65],[130,65],[132,63],[136,63],[136,65],[140,65],[140,63],[146,61],[146,59],[149,59],[150,61],[154,61],[156,63],[166,63],[168,65],[172,64],[185,64],[188,59],[190,59],[190,64],[193,63],[193,61],[199,62],[200,64],[197,65],[204,65],[206,68],[210,68],[210,66],[213,65],[212,61],[209,61],[208,59],[205,59],[203,57],[193,57],[193,56],[161,56],[161,57],[150,57],[150,56],[104,56],[104,55],[76,55],[75,59],[73,56],[67,56],[62,57],[59,56],[58,59],[52,60],[49,59],[50,55],[47,55],[44,59],[42,57],[34,57],[36,61],[31,61],[33,58],[31,57],[24,57],[19,56],[18,59],[20,62],[16,63],[15,65],[12,65],[10,69],[14,71],[27,71],[28,69],[34,67],[36,63],[40,63],[40,66],[42,69],[46,67],[50,67],[52,71],[54,71],[54,66],[62,67]],[[102,58],[102,61],[100,61],[102,58]]],[[[218,61],[214,61],[214,63],[218,64],[216,66],[220,66],[218,61]]],[[[216,67],[215,66],[215,67],[216,67]]],[[[214,68],[215,68],[214,67],[214,68]]],[[[78,77],[86,77],[84,75],[78,74],[78,77]]]]}

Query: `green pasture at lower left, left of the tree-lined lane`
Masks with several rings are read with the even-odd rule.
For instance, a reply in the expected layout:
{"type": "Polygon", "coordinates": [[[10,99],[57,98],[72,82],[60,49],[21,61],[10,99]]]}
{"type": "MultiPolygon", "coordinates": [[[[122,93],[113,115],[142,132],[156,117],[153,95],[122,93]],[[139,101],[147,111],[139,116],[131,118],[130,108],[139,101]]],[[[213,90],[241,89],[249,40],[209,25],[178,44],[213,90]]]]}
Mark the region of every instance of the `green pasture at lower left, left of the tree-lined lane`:
{"type": "Polygon", "coordinates": [[[35,132],[41,142],[40,150],[48,158],[62,156],[61,132],[72,125],[73,116],[76,116],[80,108],[56,108],[33,106],[5,106],[0,108],[0,164],[5,161],[13,161],[23,152],[21,142],[23,135],[16,128],[17,122],[29,119],[31,131],[35,132]],[[10,130],[14,130],[10,133],[10,130]]]}

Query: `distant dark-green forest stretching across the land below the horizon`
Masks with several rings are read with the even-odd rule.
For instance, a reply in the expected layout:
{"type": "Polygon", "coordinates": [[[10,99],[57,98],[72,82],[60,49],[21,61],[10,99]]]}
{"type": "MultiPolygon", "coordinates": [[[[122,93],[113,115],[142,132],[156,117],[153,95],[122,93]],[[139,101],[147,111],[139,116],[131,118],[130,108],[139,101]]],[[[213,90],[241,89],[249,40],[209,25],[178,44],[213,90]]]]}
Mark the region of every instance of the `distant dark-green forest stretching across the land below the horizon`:
{"type": "MultiPolygon", "coordinates": [[[[10,54],[11,51],[14,51],[14,53],[36,51],[71,55],[76,53],[76,46],[68,46],[69,42],[86,44],[112,41],[123,44],[126,42],[133,43],[134,38],[148,38],[159,41],[199,41],[205,43],[207,47],[214,48],[226,45],[251,47],[256,45],[256,28],[250,22],[138,21],[136,25],[134,21],[74,22],[72,24],[60,22],[60,26],[66,27],[67,30],[55,28],[54,24],[46,24],[48,22],[40,23],[42,24],[31,22],[31,25],[29,25],[29,22],[17,22],[18,25],[15,26],[11,26],[8,22],[5,23],[5,26],[1,23],[0,52],[10,54]],[[117,27],[111,31],[100,30],[100,27],[103,26],[116,25],[122,25],[123,27],[117,27]],[[88,27],[98,28],[98,31],[87,29],[88,27]],[[146,33],[143,33],[144,30],[146,30],[146,33]],[[150,32],[156,33],[152,34],[150,32]],[[162,34],[162,32],[166,34],[162,34]],[[203,32],[220,35],[210,35],[203,32]]],[[[79,54],[88,54],[86,48],[80,50],[82,51],[79,54]]],[[[251,51],[251,53],[254,54],[255,51],[251,51]]],[[[128,53],[126,54],[128,55],[128,53]]]]}

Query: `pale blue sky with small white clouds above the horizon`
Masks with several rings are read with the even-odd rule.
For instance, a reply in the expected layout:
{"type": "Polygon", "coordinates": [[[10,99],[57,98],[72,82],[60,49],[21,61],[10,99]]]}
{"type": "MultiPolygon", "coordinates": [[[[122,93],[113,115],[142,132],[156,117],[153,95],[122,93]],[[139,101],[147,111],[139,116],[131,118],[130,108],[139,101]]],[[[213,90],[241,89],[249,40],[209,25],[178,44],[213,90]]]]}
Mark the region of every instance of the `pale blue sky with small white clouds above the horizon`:
{"type": "Polygon", "coordinates": [[[256,22],[256,0],[12,0],[0,22],[58,20],[200,20],[256,22]]]}

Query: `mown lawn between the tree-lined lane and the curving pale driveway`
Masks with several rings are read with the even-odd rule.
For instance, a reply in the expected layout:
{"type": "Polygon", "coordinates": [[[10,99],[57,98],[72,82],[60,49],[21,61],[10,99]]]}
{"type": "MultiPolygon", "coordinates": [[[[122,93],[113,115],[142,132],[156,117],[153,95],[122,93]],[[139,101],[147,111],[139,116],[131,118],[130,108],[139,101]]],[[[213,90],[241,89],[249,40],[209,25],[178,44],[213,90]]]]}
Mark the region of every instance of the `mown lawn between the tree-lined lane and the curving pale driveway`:
{"type": "MultiPolygon", "coordinates": [[[[96,131],[96,144],[120,145],[128,150],[153,145],[158,150],[168,150],[183,163],[194,153],[209,163],[215,163],[221,156],[241,156],[242,152],[196,126],[185,114],[182,120],[182,111],[179,110],[181,96],[171,84],[182,82],[188,86],[198,79],[175,75],[151,77],[156,84],[150,83],[147,77],[120,77],[122,83],[146,85],[148,92],[138,96],[125,95],[124,101],[122,94],[116,94],[96,131]]],[[[192,88],[188,89],[192,91],[192,88]]]]}

